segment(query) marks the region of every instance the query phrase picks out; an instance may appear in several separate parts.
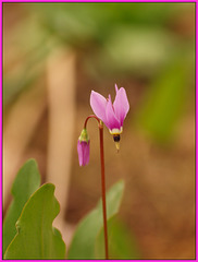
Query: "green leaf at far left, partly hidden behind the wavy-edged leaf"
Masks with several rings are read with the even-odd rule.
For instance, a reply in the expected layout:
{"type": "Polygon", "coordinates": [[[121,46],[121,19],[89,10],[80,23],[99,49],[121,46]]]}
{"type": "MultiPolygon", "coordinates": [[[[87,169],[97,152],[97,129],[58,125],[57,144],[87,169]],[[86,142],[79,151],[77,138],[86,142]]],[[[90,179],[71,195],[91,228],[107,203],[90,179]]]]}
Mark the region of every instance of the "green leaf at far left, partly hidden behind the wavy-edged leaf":
{"type": "Polygon", "coordinates": [[[27,160],[18,170],[12,186],[13,201],[3,222],[3,254],[16,235],[15,223],[29,196],[39,188],[40,175],[34,159],[27,160]]]}

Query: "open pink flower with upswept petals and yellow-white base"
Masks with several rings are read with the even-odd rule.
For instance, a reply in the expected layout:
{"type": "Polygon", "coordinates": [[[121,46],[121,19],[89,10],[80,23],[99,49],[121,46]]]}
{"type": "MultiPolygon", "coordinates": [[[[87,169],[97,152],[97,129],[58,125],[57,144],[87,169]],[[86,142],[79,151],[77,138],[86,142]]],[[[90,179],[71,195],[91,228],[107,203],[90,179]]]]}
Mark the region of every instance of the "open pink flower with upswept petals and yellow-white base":
{"type": "MultiPolygon", "coordinates": [[[[119,90],[115,84],[115,91],[116,95],[113,104],[111,95],[107,99],[99,93],[91,91],[90,106],[95,115],[108,127],[110,133],[117,136],[123,132],[123,122],[129,110],[129,103],[124,87],[119,90]]],[[[120,136],[117,140],[120,140],[120,136]]]]}

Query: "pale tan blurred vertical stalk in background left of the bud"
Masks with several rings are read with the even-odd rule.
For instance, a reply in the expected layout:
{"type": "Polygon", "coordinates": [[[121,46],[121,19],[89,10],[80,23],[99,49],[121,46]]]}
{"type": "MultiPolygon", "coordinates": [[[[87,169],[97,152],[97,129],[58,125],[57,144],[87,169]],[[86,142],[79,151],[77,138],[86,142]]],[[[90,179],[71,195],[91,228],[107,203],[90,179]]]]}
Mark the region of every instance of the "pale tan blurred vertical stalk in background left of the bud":
{"type": "MultiPolygon", "coordinates": [[[[75,53],[59,48],[47,63],[49,103],[49,141],[47,159],[47,182],[55,184],[55,196],[61,211],[54,221],[63,231],[66,210],[75,118],[75,53]]],[[[64,238],[64,236],[63,236],[64,238]]]]}

